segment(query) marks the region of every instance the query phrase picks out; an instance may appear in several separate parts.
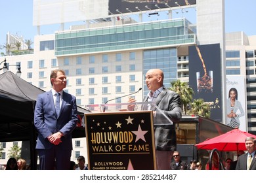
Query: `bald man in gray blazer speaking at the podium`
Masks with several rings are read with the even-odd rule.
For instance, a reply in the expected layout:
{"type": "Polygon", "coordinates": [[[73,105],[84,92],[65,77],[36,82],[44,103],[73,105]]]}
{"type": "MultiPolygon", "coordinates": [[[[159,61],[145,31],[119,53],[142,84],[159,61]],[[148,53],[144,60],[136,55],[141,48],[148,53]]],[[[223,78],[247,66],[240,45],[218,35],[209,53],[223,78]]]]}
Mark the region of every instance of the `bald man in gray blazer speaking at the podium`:
{"type": "MultiPolygon", "coordinates": [[[[182,116],[180,96],[163,86],[163,71],[161,69],[150,69],[146,73],[146,86],[150,92],[144,97],[144,102],[155,103],[160,111],[148,106],[144,110],[153,110],[154,112],[154,137],[156,146],[156,165],[158,170],[170,169],[173,152],[176,150],[175,124],[169,124],[168,120],[161,114],[162,112],[172,122],[179,122],[182,116]],[[164,124],[164,125],[163,125],[164,124]]],[[[129,99],[134,103],[135,99],[129,99]]]]}

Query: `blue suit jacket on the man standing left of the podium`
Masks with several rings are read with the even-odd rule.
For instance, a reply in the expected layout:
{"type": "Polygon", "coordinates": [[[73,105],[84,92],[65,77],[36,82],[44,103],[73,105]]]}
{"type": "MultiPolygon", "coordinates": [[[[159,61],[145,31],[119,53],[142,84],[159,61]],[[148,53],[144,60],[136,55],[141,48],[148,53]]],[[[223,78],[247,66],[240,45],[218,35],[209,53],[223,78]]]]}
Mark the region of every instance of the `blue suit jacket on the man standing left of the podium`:
{"type": "Polygon", "coordinates": [[[38,131],[36,149],[50,149],[54,146],[47,137],[58,131],[63,133],[58,147],[72,150],[72,131],[77,124],[76,99],[69,93],[62,93],[60,115],[57,116],[51,91],[38,95],[34,112],[35,128],[38,131]]]}

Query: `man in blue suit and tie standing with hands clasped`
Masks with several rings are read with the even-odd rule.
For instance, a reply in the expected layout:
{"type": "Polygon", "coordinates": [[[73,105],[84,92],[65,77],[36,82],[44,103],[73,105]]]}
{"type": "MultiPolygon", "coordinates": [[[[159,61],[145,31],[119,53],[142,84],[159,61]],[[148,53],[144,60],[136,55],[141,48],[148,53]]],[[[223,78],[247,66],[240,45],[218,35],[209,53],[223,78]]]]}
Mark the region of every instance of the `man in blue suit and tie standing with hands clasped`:
{"type": "Polygon", "coordinates": [[[36,149],[41,170],[68,170],[72,152],[72,131],[77,124],[75,96],[63,91],[63,70],[51,72],[52,90],[37,97],[34,123],[38,131],[36,149]]]}

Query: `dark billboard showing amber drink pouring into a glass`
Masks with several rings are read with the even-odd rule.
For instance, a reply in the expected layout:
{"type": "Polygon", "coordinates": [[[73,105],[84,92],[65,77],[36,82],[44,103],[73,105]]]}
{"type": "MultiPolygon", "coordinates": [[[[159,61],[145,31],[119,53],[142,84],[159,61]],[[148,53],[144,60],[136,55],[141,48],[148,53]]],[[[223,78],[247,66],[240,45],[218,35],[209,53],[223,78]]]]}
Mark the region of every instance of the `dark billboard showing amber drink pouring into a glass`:
{"type": "Polygon", "coordinates": [[[222,122],[221,48],[220,44],[188,47],[189,85],[194,99],[203,99],[211,108],[211,119],[222,122]]]}

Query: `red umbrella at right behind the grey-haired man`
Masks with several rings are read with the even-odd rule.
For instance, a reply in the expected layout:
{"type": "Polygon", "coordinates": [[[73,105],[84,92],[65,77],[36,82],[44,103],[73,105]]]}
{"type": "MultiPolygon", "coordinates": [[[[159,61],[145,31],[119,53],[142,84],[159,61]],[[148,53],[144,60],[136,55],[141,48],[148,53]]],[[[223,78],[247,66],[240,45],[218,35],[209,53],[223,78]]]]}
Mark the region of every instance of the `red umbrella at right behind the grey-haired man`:
{"type": "Polygon", "coordinates": [[[246,150],[245,148],[245,138],[246,137],[254,137],[256,139],[256,135],[252,135],[245,131],[241,131],[240,129],[233,129],[224,133],[223,135],[219,135],[212,139],[207,139],[195,146],[198,149],[205,150],[213,150],[217,149],[219,151],[238,151],[238,150],[246,150]]]}

